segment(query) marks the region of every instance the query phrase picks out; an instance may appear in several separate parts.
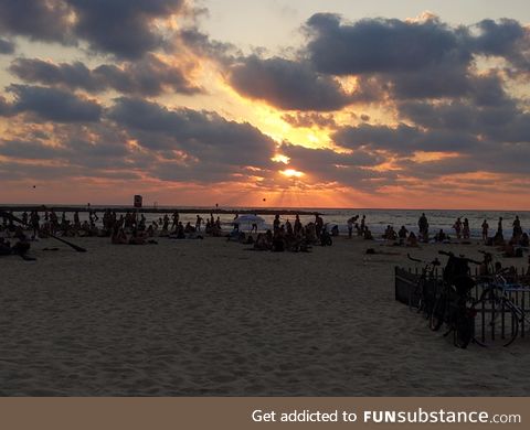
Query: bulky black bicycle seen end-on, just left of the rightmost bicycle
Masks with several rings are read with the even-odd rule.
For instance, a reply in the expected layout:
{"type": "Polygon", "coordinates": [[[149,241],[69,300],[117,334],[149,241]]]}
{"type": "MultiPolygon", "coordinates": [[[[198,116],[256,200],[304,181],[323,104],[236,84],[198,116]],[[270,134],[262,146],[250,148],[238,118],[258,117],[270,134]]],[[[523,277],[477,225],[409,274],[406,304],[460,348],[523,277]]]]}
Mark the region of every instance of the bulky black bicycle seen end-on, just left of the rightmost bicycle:
{"type": "Polygon", "coordinates": [[[438,251],[448,256],[444,269],[444,282],[439,295],[430,316],[430,327],[438,331],[445,323],[447,331],[444,337],[453,333],[453,343],[459,348],[466,348],[474,338],[475,310],[470,290],[475,281],[469,277],[469,264],[480,265],[464,256],[456,257],[453,252],[438,251]]]}

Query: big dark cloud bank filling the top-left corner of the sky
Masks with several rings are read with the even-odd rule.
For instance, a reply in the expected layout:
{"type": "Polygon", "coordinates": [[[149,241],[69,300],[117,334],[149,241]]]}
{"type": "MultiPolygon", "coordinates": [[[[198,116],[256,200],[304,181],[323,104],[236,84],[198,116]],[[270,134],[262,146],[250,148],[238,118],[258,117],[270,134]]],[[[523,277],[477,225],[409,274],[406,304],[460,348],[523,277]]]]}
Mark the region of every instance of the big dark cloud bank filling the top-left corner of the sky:
{"type": "Polygon", "coordinates": [[[32,40],[76,44],[139,58],[166,41],[155,26],[184,8],[183,0],[3,0],[0,31],[32,40]]]}

